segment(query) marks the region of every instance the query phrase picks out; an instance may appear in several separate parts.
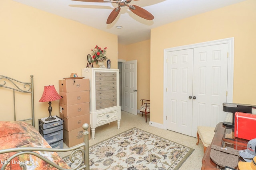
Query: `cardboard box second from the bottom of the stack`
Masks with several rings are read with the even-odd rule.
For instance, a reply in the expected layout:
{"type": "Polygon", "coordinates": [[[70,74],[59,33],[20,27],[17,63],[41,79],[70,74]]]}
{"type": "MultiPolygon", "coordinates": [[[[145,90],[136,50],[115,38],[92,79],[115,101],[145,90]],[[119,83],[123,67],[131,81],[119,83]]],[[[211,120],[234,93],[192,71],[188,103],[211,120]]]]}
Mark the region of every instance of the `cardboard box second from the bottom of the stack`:
{"type": "Polygon", "coordinates": [[[84,123],[88,123],[90,125],[90,114],[71,117],[69,119],[66,119],[64,117],[61,118],[63,119],[63,129],[67,131],[82,127],[84,123]]]}

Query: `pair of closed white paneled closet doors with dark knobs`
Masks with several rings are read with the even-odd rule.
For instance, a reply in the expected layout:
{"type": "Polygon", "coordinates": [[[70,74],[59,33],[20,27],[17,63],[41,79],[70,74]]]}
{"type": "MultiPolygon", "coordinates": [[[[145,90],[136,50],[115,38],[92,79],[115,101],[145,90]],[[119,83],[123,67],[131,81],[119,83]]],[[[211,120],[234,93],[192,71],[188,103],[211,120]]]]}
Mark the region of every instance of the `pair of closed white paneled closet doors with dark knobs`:
{"type": "Polygon", "coordinates": [[[167,53],[167,129],[196,137],[197,126],[224,121],[228,44],[167,53]]]}

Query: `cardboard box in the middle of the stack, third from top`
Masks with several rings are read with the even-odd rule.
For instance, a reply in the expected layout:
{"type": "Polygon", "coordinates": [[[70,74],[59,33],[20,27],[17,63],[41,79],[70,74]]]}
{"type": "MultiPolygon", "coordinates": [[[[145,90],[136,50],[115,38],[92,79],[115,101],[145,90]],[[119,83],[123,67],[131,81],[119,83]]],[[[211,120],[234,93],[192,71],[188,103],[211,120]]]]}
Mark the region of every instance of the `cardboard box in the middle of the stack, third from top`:
{"type": "Polygon", "coordinates": [[[90,103],[80,103],[73,105],[64,105],[60,103],[60,116],[66,119],[84,114],[90,114],[90,103]]]}

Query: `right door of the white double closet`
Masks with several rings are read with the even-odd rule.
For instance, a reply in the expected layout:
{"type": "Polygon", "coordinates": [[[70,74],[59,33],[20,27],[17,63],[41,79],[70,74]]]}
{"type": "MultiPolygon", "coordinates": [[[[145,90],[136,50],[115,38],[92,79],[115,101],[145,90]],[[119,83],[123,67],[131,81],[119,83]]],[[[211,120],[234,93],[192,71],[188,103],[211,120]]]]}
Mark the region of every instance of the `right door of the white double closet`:
{"type": "Polygon", "coordinates": [[[194,48],[192,136],[197,126],[215,127],[224,121],[227,102],[228,44],[194,48]]]}

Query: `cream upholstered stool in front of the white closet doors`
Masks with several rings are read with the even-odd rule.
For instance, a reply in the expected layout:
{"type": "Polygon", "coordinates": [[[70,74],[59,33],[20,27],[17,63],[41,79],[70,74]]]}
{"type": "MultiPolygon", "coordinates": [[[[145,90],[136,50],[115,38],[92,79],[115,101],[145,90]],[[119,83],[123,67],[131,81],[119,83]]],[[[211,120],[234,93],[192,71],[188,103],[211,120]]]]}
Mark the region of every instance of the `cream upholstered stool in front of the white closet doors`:
{"type": "Polygon", "coordinates": [[[214,137],[214,129],[215,127],[207,127],[207,126],[198,126],[197,127],[197,143],[199,143],[199,138],[201,139],[203,145],[204,145],[204,152],[206,151],[206,148],[211,145],[212,139],[214,137]]]}

